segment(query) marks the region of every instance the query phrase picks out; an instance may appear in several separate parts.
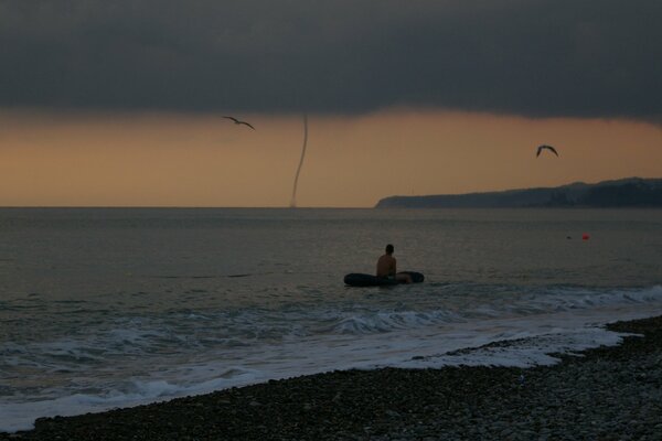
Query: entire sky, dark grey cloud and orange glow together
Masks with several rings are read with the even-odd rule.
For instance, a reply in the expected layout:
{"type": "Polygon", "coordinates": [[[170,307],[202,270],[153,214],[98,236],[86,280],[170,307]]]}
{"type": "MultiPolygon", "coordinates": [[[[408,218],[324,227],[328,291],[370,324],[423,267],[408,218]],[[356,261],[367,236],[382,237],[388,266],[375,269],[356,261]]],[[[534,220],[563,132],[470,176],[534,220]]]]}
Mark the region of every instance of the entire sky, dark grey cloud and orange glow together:
{"type": "Polygon", "coordinates": [[[302,114],[300,206],[662,176],[661,21],[654,0],[0,0],[0,205],[286,206],[302,114]]]}

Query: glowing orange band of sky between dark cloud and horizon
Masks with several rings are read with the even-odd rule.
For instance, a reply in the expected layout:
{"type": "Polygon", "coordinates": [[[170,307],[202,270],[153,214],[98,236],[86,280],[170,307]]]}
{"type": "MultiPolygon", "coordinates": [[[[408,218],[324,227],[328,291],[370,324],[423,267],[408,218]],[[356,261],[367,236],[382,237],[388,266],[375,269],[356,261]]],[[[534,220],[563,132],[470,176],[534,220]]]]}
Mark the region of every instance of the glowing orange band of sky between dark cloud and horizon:
{"type": "MultiPolygon", "coordinates": [[[[288,206],[300,116],[0,111],[0,206],[288,206]]],[[[548,152],[545,152],[548,153],[548,152]]],[[[309,116],[298,206],[662,178],[662,127],[389,109],[309,116]],[[541,155],[541,143],[560,158],[541,155]]]]}

